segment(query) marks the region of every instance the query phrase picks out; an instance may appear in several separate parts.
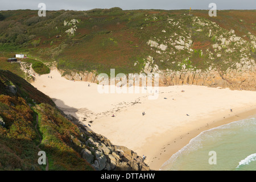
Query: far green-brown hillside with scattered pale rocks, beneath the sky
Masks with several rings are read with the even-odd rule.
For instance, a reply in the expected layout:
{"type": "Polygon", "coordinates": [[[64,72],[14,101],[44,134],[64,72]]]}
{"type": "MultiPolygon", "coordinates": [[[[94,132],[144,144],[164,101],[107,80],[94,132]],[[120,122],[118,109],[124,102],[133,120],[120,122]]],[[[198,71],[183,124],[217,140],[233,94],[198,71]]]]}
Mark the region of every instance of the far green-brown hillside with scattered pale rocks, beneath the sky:
{"type": "Polygon", "coordinates": [[[173,71],[183,65],[225,71],[243,57],[255,59],[255,10],[222,10],[216,17],[210,17],[208,10],[191,13],[115,7],[47,11],[46,17],[39,17],[34,10],[1,11],[0,52],[56,61],[64,74],[109,73],[110,68],[116,73],[139,73],[148,56],[154,57],[159,69],[173,71]],[[229,42],[222,43],[224,39],[229,42]]]}

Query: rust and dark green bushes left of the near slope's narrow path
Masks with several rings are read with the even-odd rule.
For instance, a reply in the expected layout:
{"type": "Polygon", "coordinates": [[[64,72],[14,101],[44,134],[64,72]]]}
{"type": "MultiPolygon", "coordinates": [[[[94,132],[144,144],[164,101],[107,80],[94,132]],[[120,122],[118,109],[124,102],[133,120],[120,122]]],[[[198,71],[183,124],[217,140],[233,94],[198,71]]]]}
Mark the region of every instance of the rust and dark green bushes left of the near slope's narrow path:
{"type": "Polygon", "coordinates": [[[0,125],[1,170],[40,170],[31,114],[23,98],[0,96],[0,115],[5,121],[5,127],[0,125]]]}

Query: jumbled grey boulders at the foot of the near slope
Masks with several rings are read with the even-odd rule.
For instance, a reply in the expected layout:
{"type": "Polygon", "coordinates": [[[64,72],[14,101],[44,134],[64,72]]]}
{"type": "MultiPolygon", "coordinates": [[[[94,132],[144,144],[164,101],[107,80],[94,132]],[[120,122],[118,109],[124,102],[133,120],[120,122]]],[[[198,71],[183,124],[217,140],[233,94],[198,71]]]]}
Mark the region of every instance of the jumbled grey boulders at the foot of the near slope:
{"type": "MultiPolygon", "coordinates": [[[[147,164],[143,162],[143,158],[133,150],[125,146],[116,146],[108,138],[86,130],[86,127],[77,123],[75,118],[72,119],[72,122],[79,126],[83,133],[81,137],[86,140],[86,142],[80,141],[81,156],[96,171],[150,171],[147,164]]],[[[71,138],[74,137],[71,136],[71,138]]]]}

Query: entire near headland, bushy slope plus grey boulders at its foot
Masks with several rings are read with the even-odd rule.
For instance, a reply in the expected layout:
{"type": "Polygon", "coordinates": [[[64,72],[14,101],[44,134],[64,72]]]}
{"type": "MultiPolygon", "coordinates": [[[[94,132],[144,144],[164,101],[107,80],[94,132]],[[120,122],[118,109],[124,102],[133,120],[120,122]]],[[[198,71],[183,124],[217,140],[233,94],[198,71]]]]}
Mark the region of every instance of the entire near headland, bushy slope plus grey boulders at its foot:
{"type": "Polygon", "coordinates": [[[65,115],[23,78],[0,70],[0,170],[150,170],[141,156],[115,146],[65,115]],[[38,163],[38,151],[47,165],[38,163]]]}

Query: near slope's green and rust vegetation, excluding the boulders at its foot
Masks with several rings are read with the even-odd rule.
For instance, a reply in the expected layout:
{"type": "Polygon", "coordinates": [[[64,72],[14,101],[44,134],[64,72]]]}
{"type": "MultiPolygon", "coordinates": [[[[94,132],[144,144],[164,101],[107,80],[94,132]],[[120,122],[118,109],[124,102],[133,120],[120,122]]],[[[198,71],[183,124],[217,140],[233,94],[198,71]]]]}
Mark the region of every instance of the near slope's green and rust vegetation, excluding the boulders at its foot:
{"type": "Polygon", "coordinates": [[[0,170],[45,170],[40,150],[49,170],[93,170],[81,158],[79,128],[48,96],[9,71],[0,70],[0,85],[0,170]]]}

